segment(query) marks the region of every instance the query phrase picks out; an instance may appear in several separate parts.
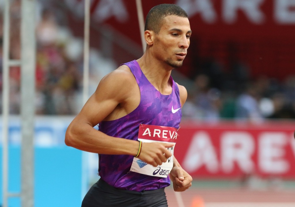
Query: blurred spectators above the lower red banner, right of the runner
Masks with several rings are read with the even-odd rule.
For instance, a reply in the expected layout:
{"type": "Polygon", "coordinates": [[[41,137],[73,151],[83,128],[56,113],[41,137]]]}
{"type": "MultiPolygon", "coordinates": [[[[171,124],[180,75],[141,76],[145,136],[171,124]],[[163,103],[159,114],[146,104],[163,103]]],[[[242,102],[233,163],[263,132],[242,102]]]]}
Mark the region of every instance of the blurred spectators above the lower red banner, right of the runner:
{"type": "Polygon", "coordinates": [[[183,107],[186,118],[216,121],[295,119],[295,73],[284,80],[251,77],[246,64],[230,72],[212,61],[194,77],[183,107]]]}

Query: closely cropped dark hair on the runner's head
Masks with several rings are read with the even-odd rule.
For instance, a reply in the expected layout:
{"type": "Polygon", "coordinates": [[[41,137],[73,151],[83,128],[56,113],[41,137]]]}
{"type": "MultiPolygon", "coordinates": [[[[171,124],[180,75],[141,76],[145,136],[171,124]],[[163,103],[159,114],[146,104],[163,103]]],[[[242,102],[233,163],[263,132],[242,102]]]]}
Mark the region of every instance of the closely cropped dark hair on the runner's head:
{"type": "Polygon", "coordinates": [[[145,19],[145,30],[152,30],[157,34],[164,23],[164,18],[169,15],[188,18],[187,13],[176,4],[159,4],[148,12],[145,19]]]}

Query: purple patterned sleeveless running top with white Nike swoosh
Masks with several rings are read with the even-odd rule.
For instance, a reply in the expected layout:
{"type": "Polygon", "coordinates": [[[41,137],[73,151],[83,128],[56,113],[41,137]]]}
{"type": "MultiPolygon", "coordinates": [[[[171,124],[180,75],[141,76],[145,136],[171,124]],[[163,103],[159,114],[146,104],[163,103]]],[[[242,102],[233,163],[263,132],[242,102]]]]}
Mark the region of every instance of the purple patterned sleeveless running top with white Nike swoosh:
{"type": "MultiPolygon", "coordinates": [[[[172,93],[161,94],[148,81],[142,73],[137,61],[124,63],[134,75],[140,88],[140,104],[130,114],[112,121],[99,123],[99,131],[109,136],[137,140],[140,124],[170,126],[179,128],[181,121],[181,109],[172,113],[173,110],[181,108],[179,90],[176,83],[172,81],[172,93]]],[[[116,188],[134,190],[156,190],[170,185],[167,178],[143,175],[130,172],[133,156],[130,155],[107,155],[99,154],[99,176],[116,188]]]]}

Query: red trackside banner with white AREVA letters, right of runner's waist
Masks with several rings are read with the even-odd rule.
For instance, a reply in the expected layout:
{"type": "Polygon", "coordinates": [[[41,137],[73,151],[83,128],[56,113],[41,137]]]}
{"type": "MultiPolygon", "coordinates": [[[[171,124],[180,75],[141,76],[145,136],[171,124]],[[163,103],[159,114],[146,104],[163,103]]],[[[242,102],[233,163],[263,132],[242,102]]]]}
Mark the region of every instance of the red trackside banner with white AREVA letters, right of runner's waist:
{"type": "Polygon", "coordinates": [[[193,177],[295,178],[295,122],[186,123],[175,156],[193,177]]]}

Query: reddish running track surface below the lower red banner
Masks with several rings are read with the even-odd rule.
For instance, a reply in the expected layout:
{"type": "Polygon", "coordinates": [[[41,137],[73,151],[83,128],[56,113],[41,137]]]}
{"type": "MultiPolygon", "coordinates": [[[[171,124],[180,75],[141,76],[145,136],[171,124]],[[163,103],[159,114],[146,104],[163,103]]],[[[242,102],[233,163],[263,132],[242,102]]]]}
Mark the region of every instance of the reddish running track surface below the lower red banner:
{"type": "Polygon", "coordinates": [[[166,188],[169,207],[295,207],[295,188],[194,187],[175,193],[166,188]]]}

